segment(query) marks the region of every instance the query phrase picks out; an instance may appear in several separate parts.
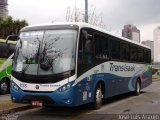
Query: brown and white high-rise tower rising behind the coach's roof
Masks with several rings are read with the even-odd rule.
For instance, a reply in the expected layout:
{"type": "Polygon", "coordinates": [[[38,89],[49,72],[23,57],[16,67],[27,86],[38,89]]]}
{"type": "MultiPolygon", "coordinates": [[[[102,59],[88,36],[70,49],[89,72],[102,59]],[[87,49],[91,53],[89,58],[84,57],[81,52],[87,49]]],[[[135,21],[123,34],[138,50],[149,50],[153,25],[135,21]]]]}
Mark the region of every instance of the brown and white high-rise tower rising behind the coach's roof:
{"type": "Polygon", "coordinates": [[[122,36],[140,43],[140,30],[136,26],[125,25],[122,29],[122,36]]]}

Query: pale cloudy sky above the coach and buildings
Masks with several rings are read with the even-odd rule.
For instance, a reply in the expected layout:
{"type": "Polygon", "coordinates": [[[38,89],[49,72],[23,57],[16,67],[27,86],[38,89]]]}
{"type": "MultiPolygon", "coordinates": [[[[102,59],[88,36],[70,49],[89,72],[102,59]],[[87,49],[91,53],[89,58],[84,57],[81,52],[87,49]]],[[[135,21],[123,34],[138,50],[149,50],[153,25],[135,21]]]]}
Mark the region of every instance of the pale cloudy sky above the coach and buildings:
{"type": "MultiPolygon", "coordinates": [[[[153,40],[160,26],[160,0],[88,0],[90,15],[101,16],[105,29],[121,35],[124,25],[135,25],[141,41],[153,40]]],[[[67,8],[84,12],[85,0],[8,0],[9,15],[32,24],[66,21],[67,8]]]]}

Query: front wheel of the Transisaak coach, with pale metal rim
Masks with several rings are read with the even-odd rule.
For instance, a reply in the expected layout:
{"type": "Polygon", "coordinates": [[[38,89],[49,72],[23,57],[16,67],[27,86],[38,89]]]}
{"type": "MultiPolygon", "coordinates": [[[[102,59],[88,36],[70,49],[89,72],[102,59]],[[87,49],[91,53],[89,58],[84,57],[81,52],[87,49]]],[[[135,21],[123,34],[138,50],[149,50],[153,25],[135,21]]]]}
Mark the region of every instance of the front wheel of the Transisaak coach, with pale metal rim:
{"type": "Polygon", "coordinates": [[[98,85],[95,91],[95,97],[94,97],[94,103],[93,103],[93,108],[94,109],[99,109],[102,106],[102,101],[103,101],[103,93],[102,93],[102,88],[101,85],[98,85]]]}

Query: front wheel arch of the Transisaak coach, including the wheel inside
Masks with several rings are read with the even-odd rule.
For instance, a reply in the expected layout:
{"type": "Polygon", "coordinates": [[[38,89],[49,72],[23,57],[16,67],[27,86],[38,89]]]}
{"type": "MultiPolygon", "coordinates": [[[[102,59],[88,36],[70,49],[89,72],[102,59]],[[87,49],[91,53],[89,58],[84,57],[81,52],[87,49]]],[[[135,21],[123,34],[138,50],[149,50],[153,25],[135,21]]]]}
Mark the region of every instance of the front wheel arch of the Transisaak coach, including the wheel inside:
{"type": "Polygon", "coordinates": [[[97,82],[94,90],[94,101],[93,101],[93,108],[99,109],[102,106],[103,100],[105,98],[105,83],[104,81],[100,80],[97,82]]]}

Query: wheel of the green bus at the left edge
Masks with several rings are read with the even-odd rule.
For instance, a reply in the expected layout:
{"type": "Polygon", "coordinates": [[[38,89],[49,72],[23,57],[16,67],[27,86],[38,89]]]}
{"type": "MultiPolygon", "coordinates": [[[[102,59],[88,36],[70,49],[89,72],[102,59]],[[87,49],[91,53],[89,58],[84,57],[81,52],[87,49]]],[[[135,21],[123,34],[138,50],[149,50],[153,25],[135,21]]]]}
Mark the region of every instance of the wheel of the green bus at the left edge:
{"type": "Polygon", "coordinates": [[[0,94],[7,94],[10,91],[10,82],[7,78],[0,81],[0,94]]]}

